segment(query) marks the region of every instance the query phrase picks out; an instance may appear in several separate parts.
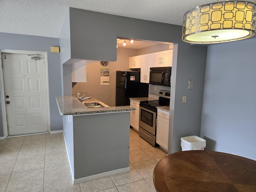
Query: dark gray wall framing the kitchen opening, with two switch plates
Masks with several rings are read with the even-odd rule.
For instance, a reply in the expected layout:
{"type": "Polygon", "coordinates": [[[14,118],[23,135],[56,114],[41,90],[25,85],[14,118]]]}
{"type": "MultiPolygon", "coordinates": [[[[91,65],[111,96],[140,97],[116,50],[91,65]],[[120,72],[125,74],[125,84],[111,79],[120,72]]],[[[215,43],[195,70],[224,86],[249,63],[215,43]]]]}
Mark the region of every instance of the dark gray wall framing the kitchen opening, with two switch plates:
{"type": "Polygon", "coordinates": [[[207,47],[182,42],[182,26],[70,8],[70,30],[72,59],[116,61],[117,37],[176,43],[168,153],[181,150],[180,137],[200,135],[207,47]],[[188,80],[194,80],[193,90],[188,90],[188,80]]]}

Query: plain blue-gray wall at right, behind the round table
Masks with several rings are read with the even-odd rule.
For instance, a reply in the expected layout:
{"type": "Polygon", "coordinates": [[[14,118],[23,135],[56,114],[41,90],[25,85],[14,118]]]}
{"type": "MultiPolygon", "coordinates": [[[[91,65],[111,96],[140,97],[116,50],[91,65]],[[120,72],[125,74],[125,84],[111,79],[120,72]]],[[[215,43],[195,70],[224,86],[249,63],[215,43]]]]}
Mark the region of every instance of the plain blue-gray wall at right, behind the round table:
{"type": "Polygon", "coordinates": [[[206,149],[256,160],[256,39],[210,46],[201,137],[206,149]]]}

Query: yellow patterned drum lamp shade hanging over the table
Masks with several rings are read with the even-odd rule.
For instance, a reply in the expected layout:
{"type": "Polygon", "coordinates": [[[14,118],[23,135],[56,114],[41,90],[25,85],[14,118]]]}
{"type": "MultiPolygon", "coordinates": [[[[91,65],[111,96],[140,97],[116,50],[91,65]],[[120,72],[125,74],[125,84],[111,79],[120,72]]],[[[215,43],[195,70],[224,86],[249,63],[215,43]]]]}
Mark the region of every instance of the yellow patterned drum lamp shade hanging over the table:
{"type": "Polygon", "coordinates": [[[182,40],[210,44],[249,38],[255,34],[255,8],[246,1],[198,6],[184,14],[182,40]]]}

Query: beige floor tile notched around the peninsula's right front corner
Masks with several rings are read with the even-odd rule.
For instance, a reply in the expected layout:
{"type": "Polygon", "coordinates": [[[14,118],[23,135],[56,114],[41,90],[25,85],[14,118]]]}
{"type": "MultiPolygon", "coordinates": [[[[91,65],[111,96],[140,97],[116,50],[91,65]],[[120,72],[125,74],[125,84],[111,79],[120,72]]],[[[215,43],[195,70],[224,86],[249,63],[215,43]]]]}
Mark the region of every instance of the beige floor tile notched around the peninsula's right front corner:
{"type": "Polygon", "coordinates": [[[138,173],[134,166],[130,166],[130,172],[124,172],[110,176],[115,186],[120,186],[130,182],[142,180],[143,177],[138,173]]]}

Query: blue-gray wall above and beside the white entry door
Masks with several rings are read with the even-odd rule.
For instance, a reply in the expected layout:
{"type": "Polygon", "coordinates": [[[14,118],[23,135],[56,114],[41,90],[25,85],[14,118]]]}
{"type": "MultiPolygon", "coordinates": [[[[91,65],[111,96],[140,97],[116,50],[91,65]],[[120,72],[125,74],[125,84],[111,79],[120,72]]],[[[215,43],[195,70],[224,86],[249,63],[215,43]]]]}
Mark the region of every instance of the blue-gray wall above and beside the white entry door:
{"type": "MultiPolygon", "coordinates": [[[[60,54],[51,52],[51,46],[60,46],[59,39],[0,33],[0,42],[0,49],[2,50],[5,49],[47,52],[51,131],[62,130],[62,117],[60,116],[55,100],[56,96],[60,96],[62,94],[60,54]]],[[[0,133],[2,132],[3,128],[1,126],[0,133]]]]}

